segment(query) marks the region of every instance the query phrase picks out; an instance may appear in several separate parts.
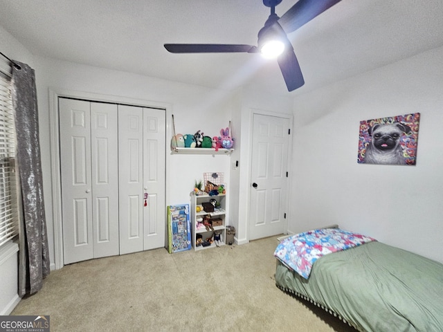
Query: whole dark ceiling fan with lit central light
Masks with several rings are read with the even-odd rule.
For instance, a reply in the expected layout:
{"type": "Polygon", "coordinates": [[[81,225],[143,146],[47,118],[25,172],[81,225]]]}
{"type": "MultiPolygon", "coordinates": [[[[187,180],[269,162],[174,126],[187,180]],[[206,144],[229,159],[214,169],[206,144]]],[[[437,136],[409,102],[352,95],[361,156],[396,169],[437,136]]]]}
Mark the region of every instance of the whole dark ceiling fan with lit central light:
{"type": "MultiPolygon", "coordinates": [[[[325,10],[341,0],[299,0],[282,17],[275,14],[275,6],[282,0],[263,0],[266,7],[271,8],[271,15],[258,33],[257,46],[245,44],[165,44],[170,53],[262,53],[266,48],[274,53],[275,46],[280,51],[277,57],[288,91],[298,89],[305,84],[302,71],[291,42],[287,37],[300,26],[307,24],[325,10]],[[275,42],[276,41],[276,42],[275,42]],[[268,42],[273,42],[269,47],[268,42]]],[[[266,56],[266,55],[265,55],[266,56]]]]}

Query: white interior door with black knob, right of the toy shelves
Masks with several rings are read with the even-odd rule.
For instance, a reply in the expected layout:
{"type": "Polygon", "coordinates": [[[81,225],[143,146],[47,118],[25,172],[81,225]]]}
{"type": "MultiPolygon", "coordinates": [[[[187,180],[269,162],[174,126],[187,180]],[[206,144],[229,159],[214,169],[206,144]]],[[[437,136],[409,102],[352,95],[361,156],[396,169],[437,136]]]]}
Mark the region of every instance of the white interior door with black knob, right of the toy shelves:
{"type": "Polygon", "coordinates": [[[289,119],[254,114],[250,240],[284,232],[288,148],[289,119]]]}

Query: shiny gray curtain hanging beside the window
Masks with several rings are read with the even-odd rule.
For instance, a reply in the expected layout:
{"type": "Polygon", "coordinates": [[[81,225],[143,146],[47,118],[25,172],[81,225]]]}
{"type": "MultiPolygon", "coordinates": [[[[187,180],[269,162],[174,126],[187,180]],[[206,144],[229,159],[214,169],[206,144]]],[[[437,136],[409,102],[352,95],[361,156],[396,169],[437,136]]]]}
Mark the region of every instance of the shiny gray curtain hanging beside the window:
{"type": "Polygon", "coordinates": [[[49,274],[48,237],[44,213],[39,145],[37,93],[33,68],[12,66],[12,104],[17,128],[17,164],[21,183],[19,227],[19,295],[33,294],[49,274]]]}

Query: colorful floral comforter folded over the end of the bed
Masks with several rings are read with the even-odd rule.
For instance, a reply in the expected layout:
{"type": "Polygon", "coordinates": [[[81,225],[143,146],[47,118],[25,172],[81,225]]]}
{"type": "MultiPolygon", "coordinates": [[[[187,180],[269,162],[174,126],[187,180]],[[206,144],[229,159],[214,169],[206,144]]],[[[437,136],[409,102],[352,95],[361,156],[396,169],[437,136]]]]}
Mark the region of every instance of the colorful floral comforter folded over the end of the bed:
{"type": "Polygon", "coordinates": [[[309,230],[281,241],[274,256],[288,268],[308,279],[314,261],[320,257],[371,241],[377,240],[340,228],[309,230]]]}

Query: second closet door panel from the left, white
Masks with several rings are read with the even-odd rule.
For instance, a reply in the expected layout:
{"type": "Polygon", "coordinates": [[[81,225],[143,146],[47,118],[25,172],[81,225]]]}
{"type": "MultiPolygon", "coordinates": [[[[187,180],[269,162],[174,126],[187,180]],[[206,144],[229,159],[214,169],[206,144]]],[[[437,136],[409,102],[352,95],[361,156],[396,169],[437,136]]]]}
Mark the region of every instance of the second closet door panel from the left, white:
{"type": "Polygon", "coordinates": [[[91,103],[94,258],[118,255],[118,109],[91,103]]]}

